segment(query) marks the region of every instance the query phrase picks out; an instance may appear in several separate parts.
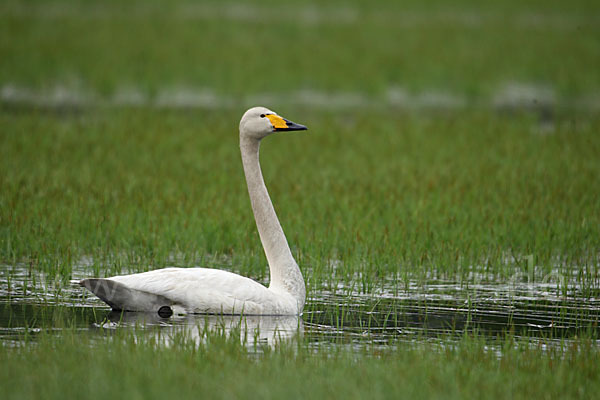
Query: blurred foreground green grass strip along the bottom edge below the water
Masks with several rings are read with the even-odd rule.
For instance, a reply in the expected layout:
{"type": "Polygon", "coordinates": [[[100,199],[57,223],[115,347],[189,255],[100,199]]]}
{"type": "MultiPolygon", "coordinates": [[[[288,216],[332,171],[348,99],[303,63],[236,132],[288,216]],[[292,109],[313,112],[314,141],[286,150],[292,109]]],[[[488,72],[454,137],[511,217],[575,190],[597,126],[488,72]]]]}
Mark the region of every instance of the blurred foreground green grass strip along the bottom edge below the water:
{"type": "Polygon", "coordinates": [[[565,346],[543,350],[509,340],[498,357],[465,337],[435,349],[313,354],[281,346],[248,356],[237,339],[218,334],[199,345],[179,337],[165,347],[133,334],[90,342],[66,333],[0,347],[0,382],[10,382],[5,399],[594,398],[598,348],[587,341],[565,346]]]}

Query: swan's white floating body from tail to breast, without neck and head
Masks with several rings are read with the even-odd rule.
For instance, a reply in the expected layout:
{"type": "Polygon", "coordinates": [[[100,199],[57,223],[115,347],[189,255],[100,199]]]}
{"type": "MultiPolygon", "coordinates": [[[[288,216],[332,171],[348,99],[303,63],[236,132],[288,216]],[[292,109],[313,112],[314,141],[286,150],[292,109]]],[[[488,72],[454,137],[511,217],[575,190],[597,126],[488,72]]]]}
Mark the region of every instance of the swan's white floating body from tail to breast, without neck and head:
{"type": "Polygon", "coordinates": [[[252,279],[210,268],[165,268],[81,282],[113,309],[205,314],[298,314],[291,296],[252,279]]]}

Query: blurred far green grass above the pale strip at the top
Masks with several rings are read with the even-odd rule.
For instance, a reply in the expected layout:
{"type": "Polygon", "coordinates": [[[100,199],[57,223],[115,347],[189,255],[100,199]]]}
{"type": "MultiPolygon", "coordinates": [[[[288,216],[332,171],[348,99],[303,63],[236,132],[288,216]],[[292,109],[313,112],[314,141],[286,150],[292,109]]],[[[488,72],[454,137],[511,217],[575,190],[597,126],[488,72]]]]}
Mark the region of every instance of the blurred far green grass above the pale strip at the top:
{"type": "Polygon", "coordinates": [[[243,4],[5,1],[0,82],[234,96],[390,85],[478,96],[506,81],[600,90],[592,1],[243,4]]]}

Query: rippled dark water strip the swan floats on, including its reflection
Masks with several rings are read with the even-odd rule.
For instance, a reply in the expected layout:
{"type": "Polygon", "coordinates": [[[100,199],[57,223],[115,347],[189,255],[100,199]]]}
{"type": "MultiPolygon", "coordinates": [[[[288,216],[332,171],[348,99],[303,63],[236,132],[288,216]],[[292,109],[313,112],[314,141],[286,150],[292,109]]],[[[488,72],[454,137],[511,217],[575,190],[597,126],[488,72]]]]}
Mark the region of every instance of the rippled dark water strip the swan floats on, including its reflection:
{"type": "MultiPolygon", "coordinates": [[[[85,276],[81,266],[74,280],[85,276]]],[[[461,285],[430,280],[399,284],[390,279],[371,293],[351,285],[321,288],[307,299],[302,317],[117,313],[74,283],[49,281],[26,266],[0,266],[0,341],[19,344],[64,329],[102,340],[135,329],[168,345],[177,334],[201,341],[207,332],[239,336],[250,347],[300,340],[309,347],[394,346],[423,341],[448,344],[464,334],[492,346],[509,334],[548,346],[581,335],[598,337],[600,299],[578,285],[544,280],[461,285]]]]}

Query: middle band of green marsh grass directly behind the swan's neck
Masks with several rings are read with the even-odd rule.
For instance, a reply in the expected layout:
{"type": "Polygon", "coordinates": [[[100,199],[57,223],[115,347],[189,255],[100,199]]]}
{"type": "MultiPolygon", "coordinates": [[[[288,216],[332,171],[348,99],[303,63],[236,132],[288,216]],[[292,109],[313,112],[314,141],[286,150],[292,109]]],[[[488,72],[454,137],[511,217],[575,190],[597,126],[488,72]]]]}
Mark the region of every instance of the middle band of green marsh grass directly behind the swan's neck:
{"type": "MultiPolygon", "coordinates": [[[[208,265],[267,279],[233,112],[0,118],[5,263],[63,279],[84,258],[100,274],[208,265]]],[[[596,118],[552,135],[527,114],[294,118],[315,128],[269,138],[261,155],[311,286],[558,271],[596,292],[596,118]]]]}

